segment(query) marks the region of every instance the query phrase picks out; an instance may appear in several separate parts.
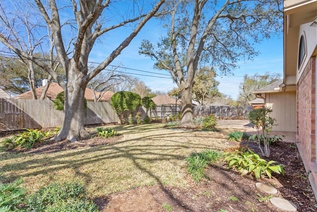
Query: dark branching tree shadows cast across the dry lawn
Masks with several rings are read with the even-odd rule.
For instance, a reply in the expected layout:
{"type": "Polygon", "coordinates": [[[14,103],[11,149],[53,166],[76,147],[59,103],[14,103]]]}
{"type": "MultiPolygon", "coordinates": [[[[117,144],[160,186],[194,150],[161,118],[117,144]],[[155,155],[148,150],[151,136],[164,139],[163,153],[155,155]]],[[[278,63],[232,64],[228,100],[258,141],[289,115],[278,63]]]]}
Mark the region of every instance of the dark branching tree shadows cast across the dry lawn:
{"type": "MultiPolygon", "coordinates": [[[[3,161],[6,159],[10,160],[10,163],[2,163],[3,165],[0,168],[0,172],[6,175],[2,180],[11,181],[18,177],[32,177],[37,175],[51,176],[54,175],[56,171],[71,169],[75,177],[83,179],[86,185],[90,185],[95,178],[92,177],[92,173],[85,170],[85,165],[95,163],[99,165],[99,162],[106,164],[113,159],[120,158],[122,160],[128,160],[129,164],[132,163],[135,169],[148,175],[148,177],[156,182],[159,188],[171,200],[177,203],[178,206],[182,207],[183,210],[191,210],[186,207],[186,203],[181,199],[175,198],[174,195],[166,189],[164,179],[162,179],[158,171],[153,170],[151,166],[147,166],[146,164],[161,163],[163,161],[168,162],[171,160],[176,161],[176,163],[182,163],[192,151],[205,150],[208,148],[220,150],[221,148],[215,147],[214,143],[199,143],[194,141],[198,137],[210,139],[212,137],[210,134],[193,136],[190,135],[192,132],[162,131],[164,133],[154,135],[155,131],[162,130],[153,129],[149,132],[150,135],[139,136],[132,139],[124,139],[123,136],[121,141],[116,140],[103,144],[88,144],[84,146],[72,144],[74,149],[71,151],[69,149],[61,149],[51,153],[33,151],[10,155],[8,158],[2,158],[4,159],[3,161]],[[188,140],[188,138],[191,140],[188,140]],[[188,152],[188,155],[179,153],[184,150],[188,152]],[[13,159],[18,158],[23,159],[13,162],[13,159]]],[[[134,133],[140,134],[138,131],[134,133]]],[[[100,168],[105,167],[102,166],[100,168]]],[[[142,182],[140,182],[140,185],[142,185],[142,182]]],[[[129,188],[140,185],[130,185],[129,188]]],[[[107,201],[104,202],[107,204],[107,201]]]]}

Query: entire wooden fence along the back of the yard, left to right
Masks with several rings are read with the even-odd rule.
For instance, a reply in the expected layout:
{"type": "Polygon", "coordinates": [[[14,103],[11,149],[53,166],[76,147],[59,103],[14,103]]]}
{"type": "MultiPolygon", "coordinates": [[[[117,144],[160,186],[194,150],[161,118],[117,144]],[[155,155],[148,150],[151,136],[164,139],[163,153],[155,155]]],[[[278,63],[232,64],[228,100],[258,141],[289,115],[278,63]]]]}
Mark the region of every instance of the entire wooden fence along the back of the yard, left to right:
{"type": "MultiPolygon", "coordinates": [[[[166,118],[180,112],[181,106],[158,105],[149,111],[152,118],[166,118]]],[[[195,116],[215,115],[217,119],[246,118],[252,107],[238,106],[194,106],[195,116]]],[[[143,118],[146,109],[139,108],[143,118]]],[[[0,131],[21,130],[23,128],[50,128],[63,123],[64,113],[54,108],[52,100],[2,99],[0,98],[0,131]]],[[[87,102],[84,124],[119,123],[119,117],[109,102],[87,102]]]]}

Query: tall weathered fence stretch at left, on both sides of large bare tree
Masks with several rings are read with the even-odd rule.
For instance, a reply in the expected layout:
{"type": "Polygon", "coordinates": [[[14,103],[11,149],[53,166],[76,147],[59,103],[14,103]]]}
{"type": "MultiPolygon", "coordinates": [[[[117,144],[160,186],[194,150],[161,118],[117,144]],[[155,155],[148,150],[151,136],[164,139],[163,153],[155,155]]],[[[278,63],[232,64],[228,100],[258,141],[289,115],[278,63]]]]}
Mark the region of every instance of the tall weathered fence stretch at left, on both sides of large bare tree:
{"type": "MultiPolygon", "coordinates": [[[[51,100],[0,99],[0,131],[56,127],[63,118],[51,100]]],[[[119,122],[109,102],[87,102],[83,119],[85,125],[119,122]]]]}

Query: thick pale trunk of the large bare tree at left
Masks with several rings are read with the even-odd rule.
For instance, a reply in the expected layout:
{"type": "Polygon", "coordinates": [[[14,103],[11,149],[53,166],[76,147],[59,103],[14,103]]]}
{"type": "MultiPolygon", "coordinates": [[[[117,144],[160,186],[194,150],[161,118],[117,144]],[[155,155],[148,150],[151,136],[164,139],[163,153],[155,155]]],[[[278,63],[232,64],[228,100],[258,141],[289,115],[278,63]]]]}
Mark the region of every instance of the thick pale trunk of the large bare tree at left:
{"type": "Polygon", "coordinates": [[[78,141],[90,137],[83,120],[85,89],[86,85],[80,83],[80,78],[68,80],[64,88],[64,122],[55,141],[78,141]]]}

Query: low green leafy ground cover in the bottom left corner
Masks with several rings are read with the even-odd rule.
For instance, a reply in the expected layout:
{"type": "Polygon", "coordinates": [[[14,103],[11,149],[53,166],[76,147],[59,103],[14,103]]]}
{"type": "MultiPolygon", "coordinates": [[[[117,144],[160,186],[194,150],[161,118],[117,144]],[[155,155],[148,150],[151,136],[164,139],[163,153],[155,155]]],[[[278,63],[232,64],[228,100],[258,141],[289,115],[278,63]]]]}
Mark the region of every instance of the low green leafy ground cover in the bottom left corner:
{"type": "Polygon", "coordinates": [[[86,197],[85,187],[77,182],[53,183],[29,196],[22,179],[0,184],[0,212],[98,212],[86,197]]]}

